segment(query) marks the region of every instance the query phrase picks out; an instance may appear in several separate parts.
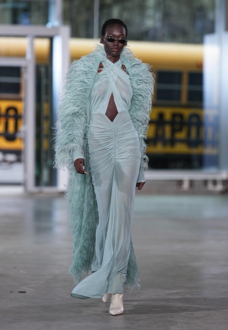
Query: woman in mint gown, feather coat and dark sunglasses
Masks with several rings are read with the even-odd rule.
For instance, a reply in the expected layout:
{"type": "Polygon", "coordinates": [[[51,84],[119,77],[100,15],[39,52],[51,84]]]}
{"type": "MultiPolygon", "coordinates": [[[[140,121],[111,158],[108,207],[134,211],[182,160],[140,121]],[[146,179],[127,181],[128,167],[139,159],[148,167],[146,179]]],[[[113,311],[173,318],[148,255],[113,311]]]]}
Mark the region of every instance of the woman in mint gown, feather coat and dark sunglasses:
{"type": "Polygon", "coordinates": [[[132,222],[135,191],[148,168],[154,84],[149,64],[127,48],[127,34],[123,21],[108,19],[102,45],[71,63],[55,138],[55,167],[69,170],[71,296],[106,303],[111,293],[112,315],[123,314],[124,288],[140,287],[132,222]]]}

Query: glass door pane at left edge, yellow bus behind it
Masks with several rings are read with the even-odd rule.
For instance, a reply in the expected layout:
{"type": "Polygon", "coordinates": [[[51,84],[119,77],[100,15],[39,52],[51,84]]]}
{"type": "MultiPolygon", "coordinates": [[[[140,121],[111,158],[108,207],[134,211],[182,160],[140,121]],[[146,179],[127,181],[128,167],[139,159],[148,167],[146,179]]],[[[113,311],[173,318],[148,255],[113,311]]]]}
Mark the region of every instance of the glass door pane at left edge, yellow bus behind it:
{"type": "Polygon", "coordinates": [[[23,182],[24,68],[0,66],[0,184],[23,182]]]}

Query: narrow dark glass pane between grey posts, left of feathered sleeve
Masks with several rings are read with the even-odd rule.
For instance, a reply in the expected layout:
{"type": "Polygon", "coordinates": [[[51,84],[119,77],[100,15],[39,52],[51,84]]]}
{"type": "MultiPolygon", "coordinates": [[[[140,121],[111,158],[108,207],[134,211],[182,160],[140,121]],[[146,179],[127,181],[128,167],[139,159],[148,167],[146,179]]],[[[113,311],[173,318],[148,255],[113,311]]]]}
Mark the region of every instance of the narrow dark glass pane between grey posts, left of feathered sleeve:
{"type": "Polygon", "coordinates": [[[49,50],[42,62],[36,66],[36,185],[55,184],[56,171],[53,169],[54,150],[51,140],[54,137],[52,103],[52,38],[39,38],[40,45],[49,50]]]}

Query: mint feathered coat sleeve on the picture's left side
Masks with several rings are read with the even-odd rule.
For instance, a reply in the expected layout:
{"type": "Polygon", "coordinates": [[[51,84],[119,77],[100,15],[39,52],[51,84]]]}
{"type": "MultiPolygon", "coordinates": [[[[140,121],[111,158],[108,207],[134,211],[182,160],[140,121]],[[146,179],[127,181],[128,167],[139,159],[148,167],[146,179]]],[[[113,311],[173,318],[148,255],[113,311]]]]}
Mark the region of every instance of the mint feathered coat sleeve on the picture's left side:
{"type": "MultiPolygon", "coordinates": [[[[64,77],[63,92],[57,109],[55,136],[55,167],[72,168],[76,158],[84,158],[86,104],[82,102],[84,86],[77,85],[77,75],[82,66],[80,60],[71,63],[64,77]],[[75,158],[76,157],[76,158],[75,158]]],[[[83,71],[83,68],[81,68],[83,71]]]]}

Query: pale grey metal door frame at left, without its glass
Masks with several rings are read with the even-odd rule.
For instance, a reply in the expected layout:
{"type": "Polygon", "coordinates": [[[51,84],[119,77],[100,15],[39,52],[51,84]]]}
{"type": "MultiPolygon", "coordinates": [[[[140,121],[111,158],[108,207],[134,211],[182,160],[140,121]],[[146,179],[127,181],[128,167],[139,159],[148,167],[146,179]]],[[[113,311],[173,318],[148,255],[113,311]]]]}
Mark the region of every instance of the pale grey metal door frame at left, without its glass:
{"type": "Polygon", "coordinates": [[[24,111],[24,184],[27,192],[38,191],[64,191],[64,183],[67,181],[67,174],[64,171],[57,171],[57,185],[42,187],[35,185],[35,114],[36,114],[36,62],[34,53],[34,38],[53,38],[53,114],[56,119],[56,109],[59,105],[59,95],[63,87],[63,78],[68,71],[70,64],[70,52],[68,40],[70,38],[70,27],[60,25],[47,28],[43,25],[8,25],[0,24],[0,36],[26,37],[28,44],[25,57],[2,57],[2,66],[22,66],[26,68],[25,77],[25,111],[24,111]],[[56,65],[56,70],[55,70],[56,65]],[[27,110],[29,109],[29,111],[27,110]]]}

